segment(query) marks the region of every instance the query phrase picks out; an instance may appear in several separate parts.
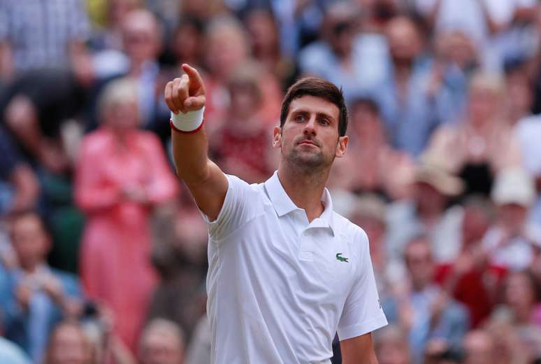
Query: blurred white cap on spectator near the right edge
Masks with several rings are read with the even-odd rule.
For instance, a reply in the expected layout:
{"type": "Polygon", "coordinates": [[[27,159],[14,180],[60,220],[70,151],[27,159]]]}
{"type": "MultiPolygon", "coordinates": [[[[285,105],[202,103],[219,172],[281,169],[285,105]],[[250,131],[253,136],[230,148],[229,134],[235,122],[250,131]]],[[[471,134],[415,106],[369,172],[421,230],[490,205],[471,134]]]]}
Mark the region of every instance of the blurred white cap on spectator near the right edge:
{"type": "Polygon", "coordinates": [[[524,169],[504,169],[496,175],[491,198],[496,204],[519,204],[529,207],[535,200],[533,179],[524,169]]]}

